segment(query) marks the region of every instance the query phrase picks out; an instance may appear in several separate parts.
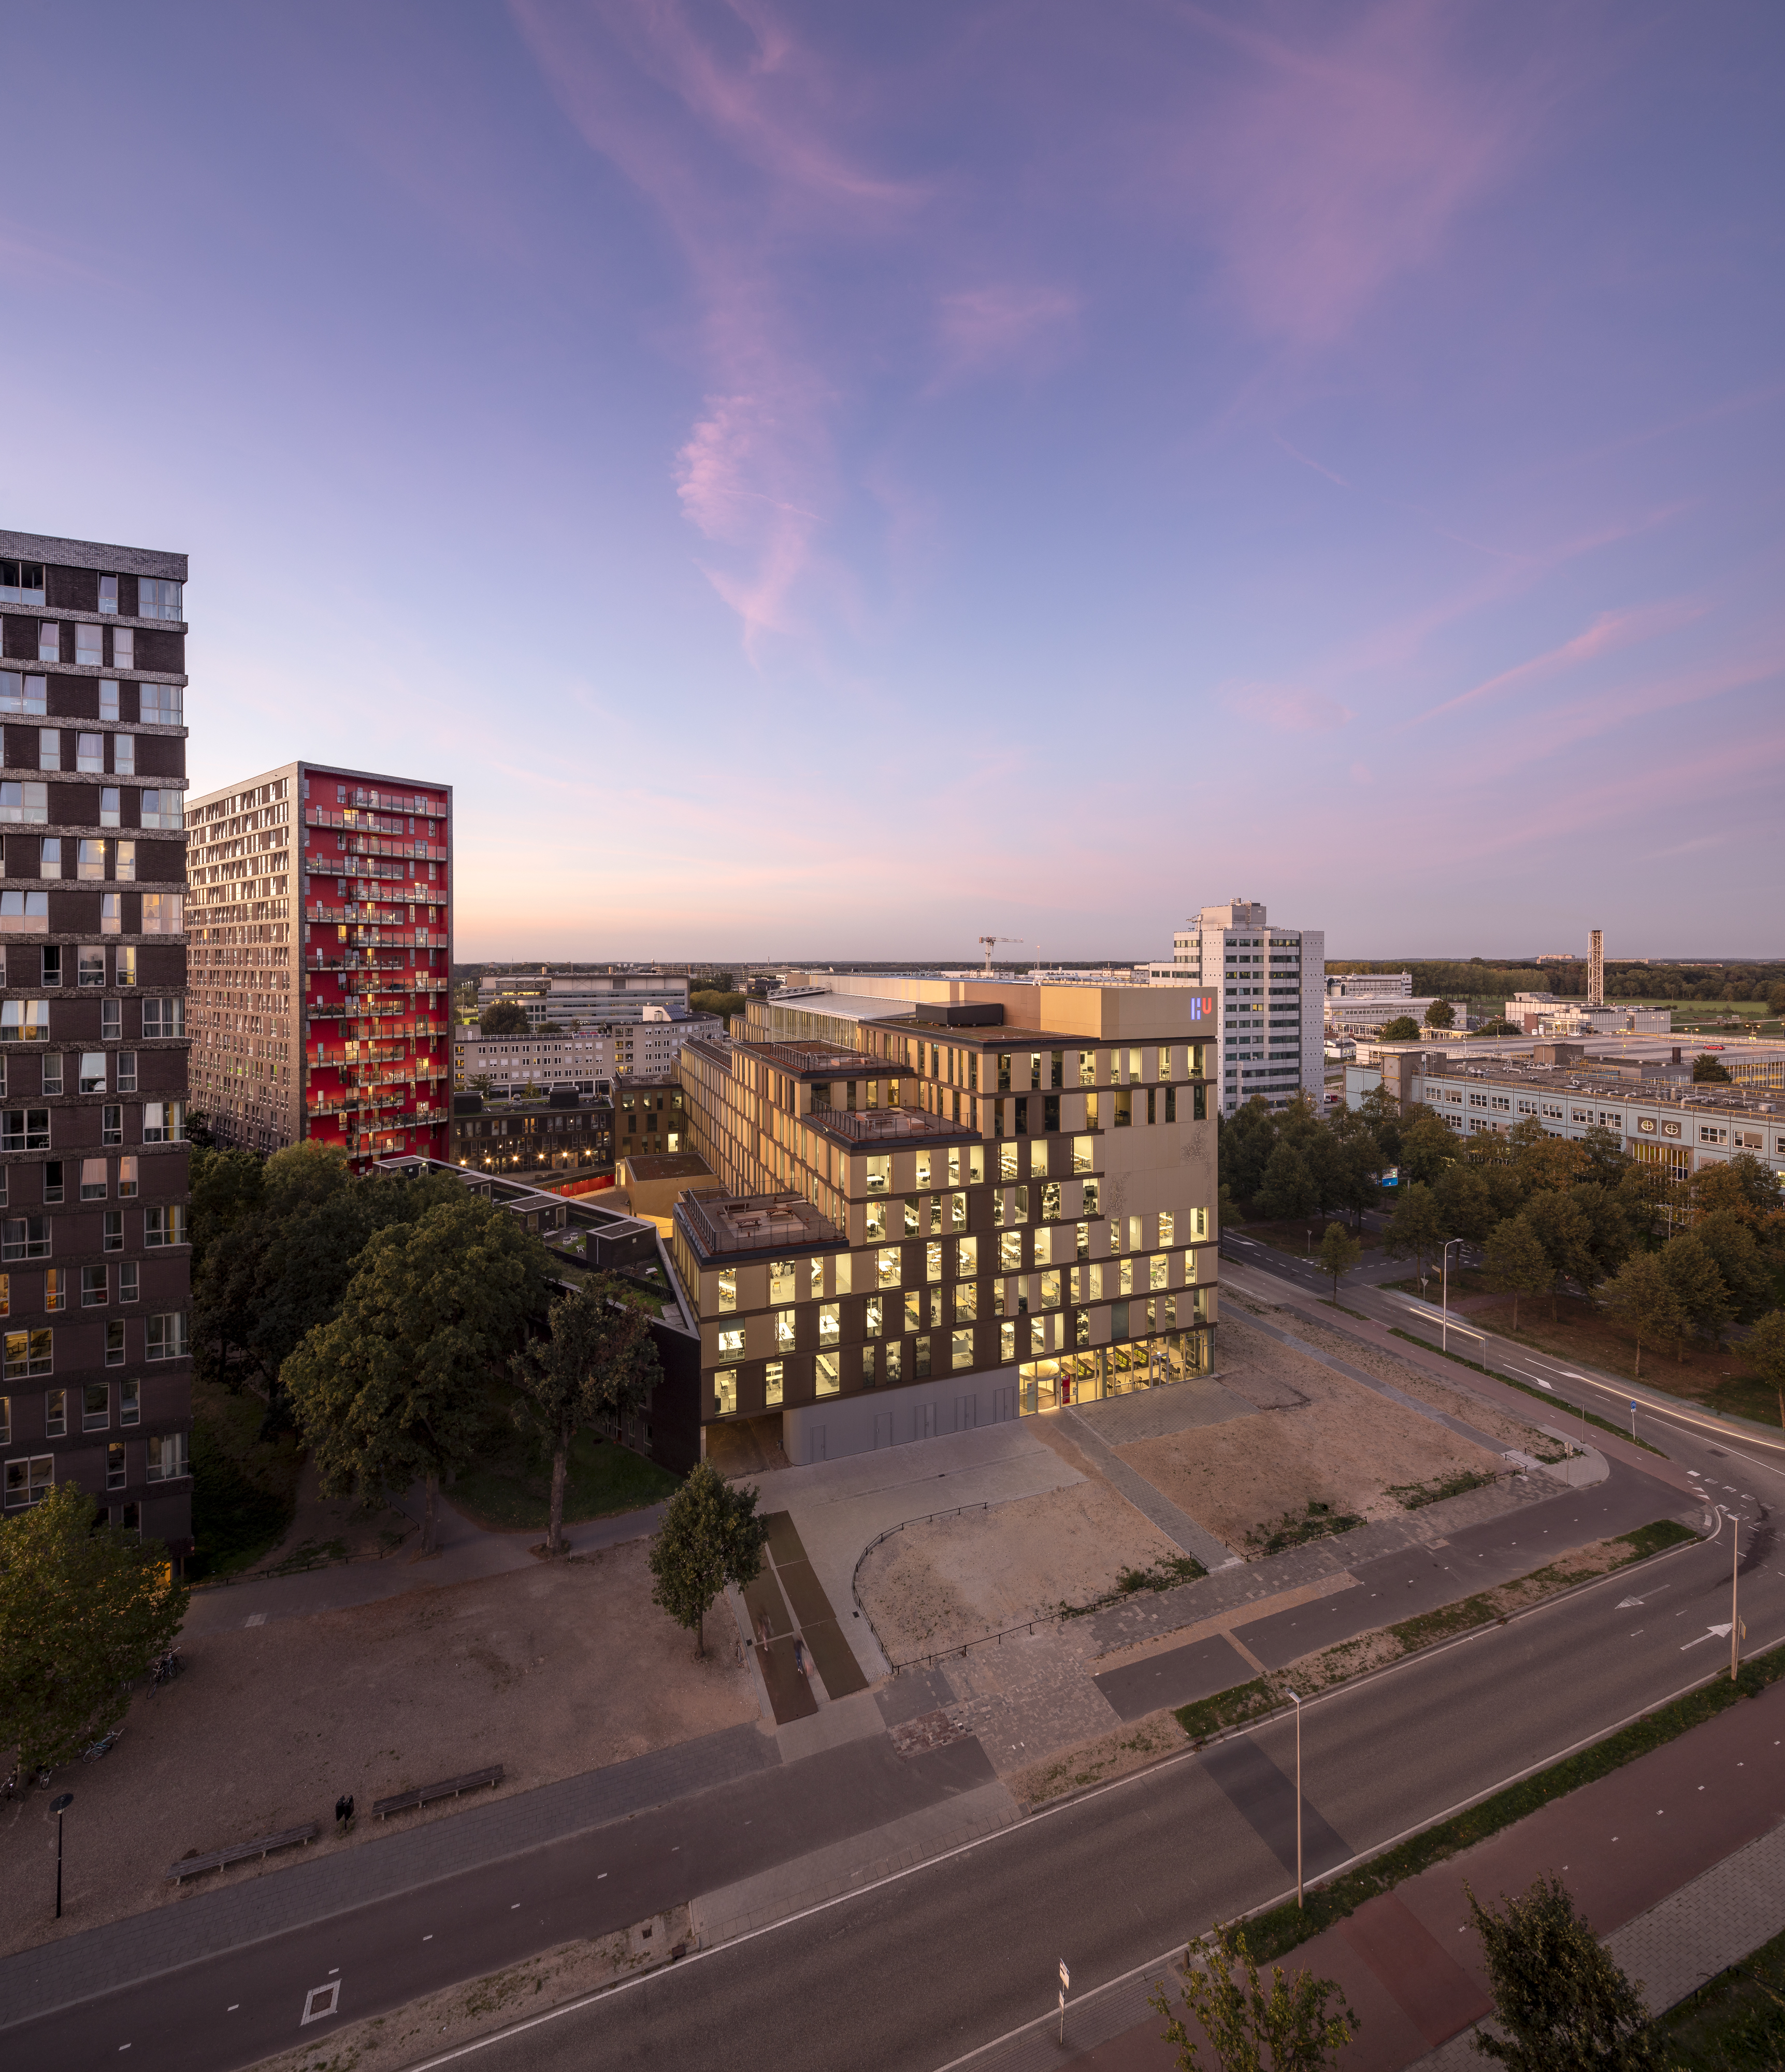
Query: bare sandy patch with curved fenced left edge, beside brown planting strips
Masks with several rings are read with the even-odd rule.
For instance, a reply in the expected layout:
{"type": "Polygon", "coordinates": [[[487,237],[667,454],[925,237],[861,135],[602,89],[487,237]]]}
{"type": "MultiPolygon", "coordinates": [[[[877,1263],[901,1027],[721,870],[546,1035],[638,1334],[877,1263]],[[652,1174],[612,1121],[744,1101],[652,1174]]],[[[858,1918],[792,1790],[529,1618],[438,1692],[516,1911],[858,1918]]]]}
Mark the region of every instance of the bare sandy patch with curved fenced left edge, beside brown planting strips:
{"type": "Polygon", "coordinates": [[[1118,1587],[1124,1569],[1180,1550],[1106,1481],[905,1525],[861,1562],[855,1587],[892,1662],[1054,1618],[1118,1587]]]}

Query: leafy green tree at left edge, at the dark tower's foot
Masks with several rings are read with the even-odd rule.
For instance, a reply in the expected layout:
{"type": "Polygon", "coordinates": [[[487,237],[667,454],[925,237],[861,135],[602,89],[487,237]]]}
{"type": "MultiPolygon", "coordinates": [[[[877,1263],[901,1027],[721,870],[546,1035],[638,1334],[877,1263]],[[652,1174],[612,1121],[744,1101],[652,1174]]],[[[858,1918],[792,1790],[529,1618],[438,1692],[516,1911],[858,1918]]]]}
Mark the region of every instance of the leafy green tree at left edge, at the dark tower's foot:
{"type": "Polygon", "coordinates": [[[159,1542],[101,1525],[72,1481],[0,1523],[0,1761],[29,1776],[110,1734],[191,1595],[159,1542]]]}

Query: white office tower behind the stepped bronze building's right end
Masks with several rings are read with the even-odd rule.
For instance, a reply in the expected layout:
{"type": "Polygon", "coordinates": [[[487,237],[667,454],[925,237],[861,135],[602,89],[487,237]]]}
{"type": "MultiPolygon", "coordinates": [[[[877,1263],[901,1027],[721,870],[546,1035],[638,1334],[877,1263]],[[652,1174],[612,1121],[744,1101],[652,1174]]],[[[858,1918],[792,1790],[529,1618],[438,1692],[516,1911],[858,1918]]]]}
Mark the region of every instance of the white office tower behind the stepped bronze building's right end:
{"type": "Polygon", "coordinates": [[[1274,928],[1259,903],[1230,899],[1178,928],[1170,966],[1149,966],[1153,984],[1220,988],[1209,1077],[1224,1115],[1253,1094],[1282,1109],[1305,1092],[1325,1109],[1325,928],[1274,928]]]}

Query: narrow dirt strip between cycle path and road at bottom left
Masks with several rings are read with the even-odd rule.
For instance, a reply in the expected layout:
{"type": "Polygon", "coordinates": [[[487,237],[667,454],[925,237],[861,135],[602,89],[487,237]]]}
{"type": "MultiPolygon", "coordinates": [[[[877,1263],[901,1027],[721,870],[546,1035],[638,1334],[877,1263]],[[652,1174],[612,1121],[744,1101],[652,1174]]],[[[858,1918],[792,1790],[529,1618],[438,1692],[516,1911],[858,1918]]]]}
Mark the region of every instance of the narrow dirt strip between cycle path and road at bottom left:
{"type": "Polygon", "coordinates": [[[460,2049],[565,1999],[656,1970],[673,1962],[669,1952],[677,1946],[694,1948],[685,1906],[601,1941],[559,1944],[487,1979],[412,1999],[393,2014],[331,2026],[325,2041],[263,2057],[257,2072],[400,2072],[416,2057],[460,2049]]]}

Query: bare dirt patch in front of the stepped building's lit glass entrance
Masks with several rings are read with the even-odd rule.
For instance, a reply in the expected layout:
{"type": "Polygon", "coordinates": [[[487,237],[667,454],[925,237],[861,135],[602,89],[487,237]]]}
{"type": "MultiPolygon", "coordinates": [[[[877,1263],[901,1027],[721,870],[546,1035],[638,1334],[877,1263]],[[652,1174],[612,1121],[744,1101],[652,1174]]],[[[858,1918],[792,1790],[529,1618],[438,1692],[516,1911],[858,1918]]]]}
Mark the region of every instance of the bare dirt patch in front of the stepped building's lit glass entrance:
{"type": "MultiPolygon", "coordinates": [[[[1346,1341],[1344,1357],[1352,1359],[1356,1351],[1346,1341]]],[[[1356,1365],[1365,1361],[1356,1359],[1356,1365]]],[[[1232,1307],[1222,1322],[1222,1380],[1251,1401],[1286,1392],[1300,1401],[1261,1417],[1139,1440],[1122,1446],[1120,1455],[1162,1496],[1230,1548],[1245,1548],[1249,1539],[1253,1548],[1261,1548],[1286,1515],[1305,1517],[1309,1504],[1323,1504],[1336,1517],[1402,1517],[1402,1500],[1392,1494],[1392,1484],[1497,1473],[1505,1465],[1495,1452],[1421,1417],[1404,1403],[1389,1403],[1253,1330],[1232,1307]]],[[[1416,1392],[1400,1374],[1396,1386],[1416,1392]]],[[[1429,1386],[1452,1397],[1458,1415],[1476,1421],[1474,1399],[1464,1405],[1441,1382],[1429,1386]]],[[[1528,1444],[1534,1438],[1528,1426],[1503,1413],[1501,1423],[1518,1434],[1508,1444],[1528,1444]]],[[[1487,1417],[1481,1428],[1487,1430],[1487,1417]]]]}

